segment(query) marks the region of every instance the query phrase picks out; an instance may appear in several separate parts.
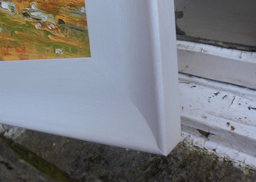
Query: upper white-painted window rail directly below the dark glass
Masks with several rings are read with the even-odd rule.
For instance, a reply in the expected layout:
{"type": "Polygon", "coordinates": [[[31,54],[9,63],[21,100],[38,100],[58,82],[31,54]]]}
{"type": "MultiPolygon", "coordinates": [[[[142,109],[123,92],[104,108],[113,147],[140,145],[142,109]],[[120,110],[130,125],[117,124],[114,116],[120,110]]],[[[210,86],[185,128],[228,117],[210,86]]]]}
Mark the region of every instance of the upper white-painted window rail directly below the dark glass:
{"type": "Polygon", "coordinates": [[[256,89],[256,52],[177,41],[179,72],[256,89]]]}

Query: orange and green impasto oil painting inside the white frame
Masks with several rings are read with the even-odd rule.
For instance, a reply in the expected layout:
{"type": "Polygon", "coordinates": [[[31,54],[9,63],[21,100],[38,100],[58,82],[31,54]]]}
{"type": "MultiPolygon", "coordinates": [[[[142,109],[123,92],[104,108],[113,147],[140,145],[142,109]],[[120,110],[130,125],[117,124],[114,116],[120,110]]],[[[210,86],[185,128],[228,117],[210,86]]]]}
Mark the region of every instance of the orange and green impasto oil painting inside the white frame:
{"type": "Polygon", "coordinates": [[[85,0],[0,0],[0,61],[90,56],[85,0]]]}

